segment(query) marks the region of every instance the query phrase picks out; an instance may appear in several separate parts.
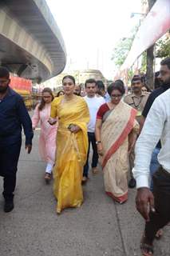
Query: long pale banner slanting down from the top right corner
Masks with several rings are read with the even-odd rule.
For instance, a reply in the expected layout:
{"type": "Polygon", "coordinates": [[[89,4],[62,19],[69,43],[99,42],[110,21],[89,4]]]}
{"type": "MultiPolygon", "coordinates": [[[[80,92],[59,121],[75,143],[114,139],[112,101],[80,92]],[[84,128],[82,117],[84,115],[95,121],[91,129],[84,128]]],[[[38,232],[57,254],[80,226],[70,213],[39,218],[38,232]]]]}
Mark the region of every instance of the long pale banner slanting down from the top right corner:
{"type": "Polygon", "coordinates": [[[132,48],[125,59],[121,70],[127,70],[132,66],[144,50],[152,46],[170,29],[170,0],[157,0],[147,17],[144,18],[132,48]]]}

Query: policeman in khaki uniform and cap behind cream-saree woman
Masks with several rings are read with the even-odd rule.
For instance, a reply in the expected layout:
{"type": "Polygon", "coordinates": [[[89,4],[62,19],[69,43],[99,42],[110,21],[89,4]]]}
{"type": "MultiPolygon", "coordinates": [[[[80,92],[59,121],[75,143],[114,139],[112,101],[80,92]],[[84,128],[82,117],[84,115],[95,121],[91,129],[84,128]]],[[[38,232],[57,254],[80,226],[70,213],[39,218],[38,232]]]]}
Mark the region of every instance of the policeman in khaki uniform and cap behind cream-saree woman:
{"type": "MultiPolygon", "coordinates": [[[[129,106],[132,106],[134,109],[137,110],[136,121],[141,124],[142,119],[142,111],[144,110],[144,106],[148,100],[148,93],[142,91],[142,78],[140,75],[134,75],[132,78],[132,93],[128,94],[124,98],[124,102],[127,103],[129,106]]],[[[134,188],[136,186],[136,181],[132,177],[132,168],[134,166],[134,159],[135,153],[132,150],[131,154],[129,155],[129,167],[130,167],[130,174],[131,179],[128,182],[128,186],[130,188],[134,188]]]]}

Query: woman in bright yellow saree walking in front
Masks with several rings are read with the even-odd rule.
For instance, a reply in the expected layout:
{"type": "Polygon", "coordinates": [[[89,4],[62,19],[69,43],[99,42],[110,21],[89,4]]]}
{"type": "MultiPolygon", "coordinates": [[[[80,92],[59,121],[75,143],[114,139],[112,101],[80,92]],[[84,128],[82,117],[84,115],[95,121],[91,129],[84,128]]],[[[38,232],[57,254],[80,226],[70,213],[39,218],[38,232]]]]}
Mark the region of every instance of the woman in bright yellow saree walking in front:
{"type": "Polygon", "coordinates": [[[89,109],[83,98],[73,94],[75,79],[63,78],[65,95],[51,105],[49,123],[58,118],[57,154],[53,168],[53,192],[57,198],[57,213],[67,207],[79,207],[83,202],[81,179],[85,165],[88,138],[89,109]]]}

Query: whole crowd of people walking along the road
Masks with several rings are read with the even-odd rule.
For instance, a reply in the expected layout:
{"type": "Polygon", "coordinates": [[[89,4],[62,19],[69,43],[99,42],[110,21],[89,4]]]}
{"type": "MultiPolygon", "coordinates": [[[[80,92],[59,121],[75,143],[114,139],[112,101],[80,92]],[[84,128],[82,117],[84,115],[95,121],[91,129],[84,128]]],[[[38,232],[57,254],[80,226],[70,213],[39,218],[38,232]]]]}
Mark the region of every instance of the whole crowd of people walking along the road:
{"type": "Polygon", "coordinates": [[[170,222],[170,58],[160,63],[160,87],[150,92],[140,75],[132,78],[131,93],[117,80],[85,81],[85,97],[75,78],[62,80],[57,97],[42,91],[32,120],[22,97],[10,88],[10,73],[0,67],[0,175],[4,178],[4,211],[14,209],[14,189],[22,128],[30,154],[40,122],[39,151],[45,161],[45,182],[53,178],[57,214],[83,202],[82,185],[101,166],[105,192],[115,202],[128,200],[128,187],[137,188],[136,209],[146,220],[140,248],[153,254],[153,240],[170,222]],[[161,94],[161,95],[160,95],[161,94]],[[128,182],[128,173],[130,180],[128,182]]]}

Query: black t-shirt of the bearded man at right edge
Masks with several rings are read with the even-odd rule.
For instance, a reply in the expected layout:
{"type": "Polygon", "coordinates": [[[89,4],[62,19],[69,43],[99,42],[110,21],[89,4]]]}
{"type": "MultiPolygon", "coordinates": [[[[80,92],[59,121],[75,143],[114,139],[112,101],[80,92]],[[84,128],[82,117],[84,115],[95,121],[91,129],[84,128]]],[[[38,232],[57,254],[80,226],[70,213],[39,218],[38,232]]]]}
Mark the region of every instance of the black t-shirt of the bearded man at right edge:
{"type": "MultiPolygon", "coordinates": [[[[160,86],[160,88],[153,90],[152,93],[148,96],[148,101],[146,102],[146,105],[144,106],[144,110],[142,112],[142,115],[144,118],[147,118],[148,112],[155,101],[155,99],[160,96],[160,94],[164,94],[166,90],[170,89],[169,85],[160,86]]],[[[157,146],[158,148],[161,148],[160,142],[158,142],[157,146]]]]}

